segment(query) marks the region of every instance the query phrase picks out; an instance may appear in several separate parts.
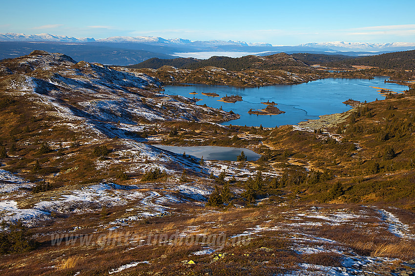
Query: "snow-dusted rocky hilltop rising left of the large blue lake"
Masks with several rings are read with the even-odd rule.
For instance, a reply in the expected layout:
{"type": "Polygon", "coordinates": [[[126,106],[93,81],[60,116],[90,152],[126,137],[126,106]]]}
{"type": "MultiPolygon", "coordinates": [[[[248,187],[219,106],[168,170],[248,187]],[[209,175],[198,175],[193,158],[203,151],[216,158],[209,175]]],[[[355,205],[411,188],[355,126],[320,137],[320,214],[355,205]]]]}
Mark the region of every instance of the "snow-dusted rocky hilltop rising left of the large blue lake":
{"type": "Polygon", "coordinates": [[[103,122],[226,121],[237,117],[199,107],[192,99],[165,95],[160,92],[161,83],[146,74],[76,62],[44,51],[3,60],[0,88],[46,105],[54,113],[103,122]]]}

